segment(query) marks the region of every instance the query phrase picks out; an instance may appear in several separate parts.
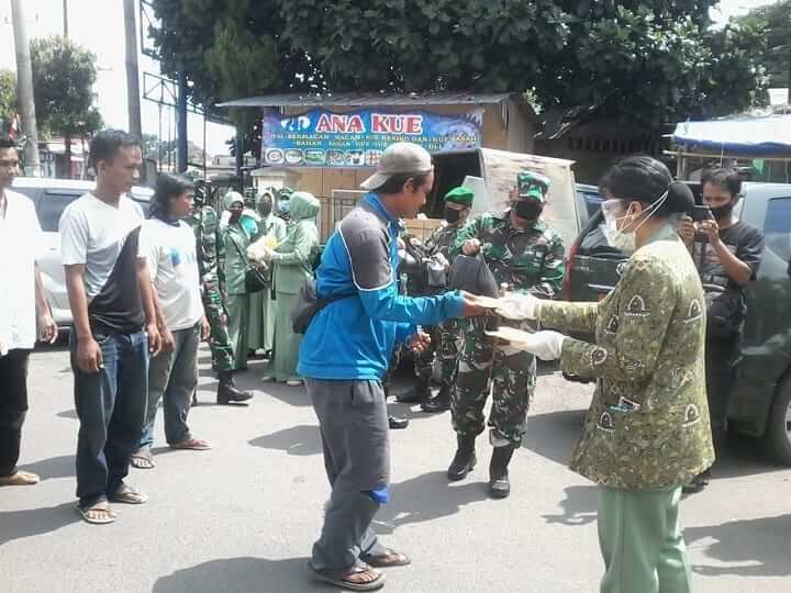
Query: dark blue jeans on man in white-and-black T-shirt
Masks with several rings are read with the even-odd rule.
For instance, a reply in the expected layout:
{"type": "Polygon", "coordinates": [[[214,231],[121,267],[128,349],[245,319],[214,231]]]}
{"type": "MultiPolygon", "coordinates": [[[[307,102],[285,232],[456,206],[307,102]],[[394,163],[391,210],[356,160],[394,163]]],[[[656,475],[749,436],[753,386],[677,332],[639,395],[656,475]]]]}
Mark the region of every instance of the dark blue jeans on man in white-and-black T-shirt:
{"type": "Polygon", "coordinates": [[[135,334],[93,333],[103,368],[77,367],[77,333],[69,351],[75,378],[75,405],[80,421],[77,437],[77,496],[89,506],[114,494],[129,473],[140,443],[148,395],[148,339],[135,334]]]}

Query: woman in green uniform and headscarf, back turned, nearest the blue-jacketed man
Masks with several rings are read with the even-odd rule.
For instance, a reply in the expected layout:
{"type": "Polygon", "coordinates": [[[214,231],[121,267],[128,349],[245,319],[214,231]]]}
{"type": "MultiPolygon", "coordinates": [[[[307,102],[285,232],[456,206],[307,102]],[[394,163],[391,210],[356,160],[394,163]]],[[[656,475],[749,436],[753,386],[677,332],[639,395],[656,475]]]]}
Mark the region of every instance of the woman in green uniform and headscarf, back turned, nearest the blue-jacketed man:
{"type": "Polygon", "coordinates": [[[274,265],[275,351],[264,379],[297,387],[302,384],[297,374],[302,336],[291,329],[291,310],[305,279],[313,276],[313,260],[319,251],[319,230],[314,220],[320,204],[312,193],[296,191],[289,205],[288,234],[274,250],[267,250],[265,257],[274,265]]]}

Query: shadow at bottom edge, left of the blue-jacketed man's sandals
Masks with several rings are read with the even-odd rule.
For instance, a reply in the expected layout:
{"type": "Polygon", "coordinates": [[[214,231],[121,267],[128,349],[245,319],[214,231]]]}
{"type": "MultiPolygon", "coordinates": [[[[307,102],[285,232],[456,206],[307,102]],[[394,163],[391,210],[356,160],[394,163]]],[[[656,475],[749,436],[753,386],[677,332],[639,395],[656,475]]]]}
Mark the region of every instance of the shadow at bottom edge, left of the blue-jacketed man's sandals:
{"type": "Polygon", "coordinates": [[[152,593],[193,593],[204,591],[328,591],[311,577],[308,558],[225,558],[177,570],[154,583],[152,593]]]}

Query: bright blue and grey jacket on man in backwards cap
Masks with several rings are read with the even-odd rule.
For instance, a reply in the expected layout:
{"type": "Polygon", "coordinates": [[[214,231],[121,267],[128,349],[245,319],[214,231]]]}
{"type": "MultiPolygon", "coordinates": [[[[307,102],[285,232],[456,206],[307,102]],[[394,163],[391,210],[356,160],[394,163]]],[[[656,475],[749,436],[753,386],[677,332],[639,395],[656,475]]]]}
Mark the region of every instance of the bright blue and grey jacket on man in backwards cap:
{"type": "Polygon", "coordinates": [[[399,294],[398,236],[402,226],[368,193],[327,240],[316,271],[320,296],[354,294],[330,303],[311,322],[298,371],[309,379],[379,380],[393,346],[416,332],[460,317],[458,292],[410,299],[399,294]]]}

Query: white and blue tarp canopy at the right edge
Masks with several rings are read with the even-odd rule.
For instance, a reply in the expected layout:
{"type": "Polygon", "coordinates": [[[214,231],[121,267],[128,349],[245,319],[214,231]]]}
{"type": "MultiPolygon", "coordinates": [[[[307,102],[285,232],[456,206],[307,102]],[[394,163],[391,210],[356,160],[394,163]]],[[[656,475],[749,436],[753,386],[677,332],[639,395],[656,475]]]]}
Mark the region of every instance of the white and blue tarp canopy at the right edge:
{"type": "Polygon", "coordinates": [[[791,115],[683,122],[676,125],[672,139],[734,156],[789,155],[791,115]]]}

